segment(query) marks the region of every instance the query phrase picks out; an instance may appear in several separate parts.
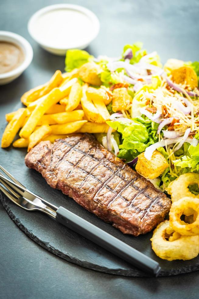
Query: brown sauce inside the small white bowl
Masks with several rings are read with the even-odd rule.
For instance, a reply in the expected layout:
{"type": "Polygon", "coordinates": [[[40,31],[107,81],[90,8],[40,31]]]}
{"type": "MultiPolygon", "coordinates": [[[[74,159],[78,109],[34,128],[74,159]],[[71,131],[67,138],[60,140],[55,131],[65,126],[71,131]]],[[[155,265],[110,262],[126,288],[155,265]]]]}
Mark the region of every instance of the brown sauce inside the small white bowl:
{"type": "Polygon", "coordinates": [[[24,53],[18,45],[0,41],[0,74],[16,69],[23,61],[24,53]]]}

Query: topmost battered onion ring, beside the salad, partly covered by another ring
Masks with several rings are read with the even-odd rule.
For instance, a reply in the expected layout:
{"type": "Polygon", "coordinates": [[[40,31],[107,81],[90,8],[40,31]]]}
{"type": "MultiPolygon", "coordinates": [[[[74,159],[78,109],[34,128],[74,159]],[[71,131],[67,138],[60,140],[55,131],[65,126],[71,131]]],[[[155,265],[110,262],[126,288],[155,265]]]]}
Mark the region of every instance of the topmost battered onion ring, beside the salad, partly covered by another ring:
{"type": "Polygon", "coordinates": [[[195,195],[189,191],[188,186],[191,184],[197,184],[199,187],[198,173],[184,173],[183,175],[180,175],[179,178],[177,178],[175,181],[171,182],[166,188],[166,191],[171,195],[172,203],[185,196],[199,198],[199,194],[195,195]]]}

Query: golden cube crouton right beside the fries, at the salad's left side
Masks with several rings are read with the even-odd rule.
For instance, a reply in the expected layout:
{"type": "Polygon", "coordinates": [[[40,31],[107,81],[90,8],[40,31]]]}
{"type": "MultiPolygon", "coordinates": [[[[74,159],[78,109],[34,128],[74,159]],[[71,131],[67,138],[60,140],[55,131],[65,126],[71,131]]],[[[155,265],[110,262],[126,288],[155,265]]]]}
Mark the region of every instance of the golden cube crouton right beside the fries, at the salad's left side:
{"type": "Polygon", "coordinates": [[[132,98],[128,94],[125,87],[116,88],[113,90],[112,110],[113,112],[126,110],[131,103],[132,98]]]}

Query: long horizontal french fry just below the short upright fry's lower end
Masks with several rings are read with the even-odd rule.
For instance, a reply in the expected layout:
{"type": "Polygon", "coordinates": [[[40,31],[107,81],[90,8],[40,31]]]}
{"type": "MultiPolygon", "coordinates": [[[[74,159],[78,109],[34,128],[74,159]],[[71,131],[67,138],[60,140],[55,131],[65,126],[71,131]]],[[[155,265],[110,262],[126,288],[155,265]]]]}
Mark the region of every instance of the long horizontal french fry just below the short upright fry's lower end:
{"type": "Polygon", "coordinates": [[[83,117],[83,110],[47,114],[41,117],[37,125],[41,126],[43,124],[65,124],[73,121],[81,121],[83,117]]]}

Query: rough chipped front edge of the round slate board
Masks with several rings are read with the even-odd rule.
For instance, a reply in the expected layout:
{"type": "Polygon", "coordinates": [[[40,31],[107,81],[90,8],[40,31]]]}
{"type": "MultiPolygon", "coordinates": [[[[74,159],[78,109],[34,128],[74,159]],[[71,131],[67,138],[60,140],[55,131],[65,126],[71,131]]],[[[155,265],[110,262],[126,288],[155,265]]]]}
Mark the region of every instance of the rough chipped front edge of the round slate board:
{"type": "MultiPolygon", "coordinates": [[[[10,218],[16,223],[16,225],[28,236],[30,237],[35,243],[37,243],[38,245],[42,246],[44,249],[50,251],[51,253],[57,255],[60,258],[63,258],[66,261],[69,261],[73,264],[82,266],[84,268],[89,268],[95,271],[99,271],[99,272],[104,272],[104,273],[108,273],[108,274],[114,274],[114,275],[120,275],[120,276],[131,276],[131,277],[146,277],[149,276],[147,274],[145,274],[144,272],[141,272],[139,270],[137,270],[135,268],[134,271],[132,270],[124,270],[124,269],[111,269],[111,268],[106,268],[106,267],[102,267],[100,265],[97,264],[93,264],[90,263],[88,261],[83,261],[80,260],[78,258],[76,258],[75,256],[72,256],[70,254],[64,254],[63,252],[61,252],[60,250],[54,248],[53,246],[51,246],[51,244],[47,243],[46,241],[42,241],[38,236],[34,235],[31,231],[29,231],[24,225],[23,223],[20,221],[19,218],[16,218],[15,214],[13,213],[11,207],[9,207],[9,201],[6,200],[6,197],[4,196],[4,194],[2,194],[0,192],[0,200],[3,204],[3,207],[5,208],[6,212],[9,214],[10,218]]],[[[172,269],[170,271],[165,271],[165,270],[161,270],[159,276],[173,276],[173,275],[179,275],[179,274],[184,274],[184,273],[189,273],[189,272],[194,272],[199,270],[199,265],[196,266],[188,266],[188,267],[182,267],[179,269],[172,269]]]]}

